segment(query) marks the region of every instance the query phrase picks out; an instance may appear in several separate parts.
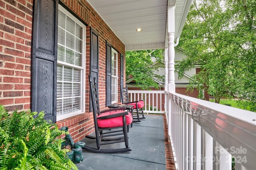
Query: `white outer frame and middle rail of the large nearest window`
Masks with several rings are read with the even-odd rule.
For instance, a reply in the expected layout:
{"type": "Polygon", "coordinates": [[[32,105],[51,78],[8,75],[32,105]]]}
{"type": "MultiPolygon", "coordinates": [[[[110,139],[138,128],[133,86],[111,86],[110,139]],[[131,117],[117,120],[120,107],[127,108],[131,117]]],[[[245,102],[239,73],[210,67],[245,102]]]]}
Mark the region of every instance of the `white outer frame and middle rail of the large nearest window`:
{"type": "MultiPolygon", "coordinates": [[[[71,112],[71,113],[66,113],[66,114],[63,114],[63,115],[57,115],[56,116],[56,121],[60,121],[62,119],[66,119],[68,117],[72,117],[74,115],[79,115],[79,114],[85,112],[85,90],[86,90],[85,78],[84,78],[84,75],[86,75],[86,72],[85,72],[85,70],[86,70],[86,68],[85,68],[86,25],[84,25],[81,21],[79,21],[72,14],[70,14],[70,12],[68,12],[64,7],[59,6],[58,10],[63,12],[66,16],[68,16],[69,18],[74,20],[78,25],[80,25],[83,28],[83,31],[82,31],[82,41],[83,42],[82,42],[82,66],[76,66],[74,64],[65,63],[63,61],[58,61],[58,59],[57,59],[57,64],[61,64],[63,66],[69,66],[69,67],[72,67],[72,68],[79,68],[79,69],[81,69],[81,77],[80,77],[81,78],[81,85],[80,85],[80,96],[81,96],[80,97],[80,106],[81,106],[81,109],[77,110],[77,111],[74,111],[74,112],[71,112]]],[[[61,44],[58,43],[58,45],[61,45],[61,44]]],[[[63,45],[61,45],[61,46],[64,47],[63,45]]],[[[66,45],[65,45],[65,47],[66,47],[66,45]]],[[[62,88],[62,94],[63,94],[63,88],[62,88]]],[[[62,105],[63,105],[63,103],[62,103],[62,105]]]]}

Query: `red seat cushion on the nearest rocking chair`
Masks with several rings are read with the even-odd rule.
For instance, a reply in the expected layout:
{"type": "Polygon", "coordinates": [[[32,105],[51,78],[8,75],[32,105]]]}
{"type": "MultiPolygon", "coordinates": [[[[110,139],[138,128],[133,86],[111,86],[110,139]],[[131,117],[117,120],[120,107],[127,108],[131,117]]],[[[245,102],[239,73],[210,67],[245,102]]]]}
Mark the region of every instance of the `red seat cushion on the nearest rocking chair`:
{"type": "MultiPolygon", "coordinates": [[[[112,114],[121,113],[121,112],[124,112],[124,111],[106,112],[98,115],[97,117],[112,115],[112,114]]],[[[125,117],[126,117],[126,124],[130,125],[132,123],[132,114],[129,112],[129,114],[125,115],[125,117]]],[[[102,127],[102,128],[123,126],[122,116],[114,117],[110,119],[97,119],[97,121],[98,121],[98,127],[102,127]]]]}

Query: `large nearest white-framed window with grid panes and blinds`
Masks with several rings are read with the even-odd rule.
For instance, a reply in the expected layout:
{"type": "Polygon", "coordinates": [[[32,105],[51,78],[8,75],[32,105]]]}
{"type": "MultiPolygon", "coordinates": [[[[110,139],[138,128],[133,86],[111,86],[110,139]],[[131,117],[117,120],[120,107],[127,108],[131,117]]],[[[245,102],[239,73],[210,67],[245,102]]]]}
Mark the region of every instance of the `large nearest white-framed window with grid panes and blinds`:
{"type": "Polygon", "coordinates": [[[57,121],[84,111],[84,31],[85,25],[59,6],[57,121]]]}

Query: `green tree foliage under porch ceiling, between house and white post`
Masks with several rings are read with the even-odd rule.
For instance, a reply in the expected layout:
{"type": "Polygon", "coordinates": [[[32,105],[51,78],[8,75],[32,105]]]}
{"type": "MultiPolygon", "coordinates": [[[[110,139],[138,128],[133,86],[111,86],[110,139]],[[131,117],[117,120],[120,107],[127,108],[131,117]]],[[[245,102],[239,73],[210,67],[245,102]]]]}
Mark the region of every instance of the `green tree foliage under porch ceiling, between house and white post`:
{"type": "Polygon", "coordinates": [[[155,79],[162,80],[163,76],[154,74],[159,68],[164,68],[164,50],[126,51],[126,79],[134,77],[136,86],[148,90],[150,86],[158,88],[155,79]],[[153,63],[151,57],[156,59],[153,63]]]}

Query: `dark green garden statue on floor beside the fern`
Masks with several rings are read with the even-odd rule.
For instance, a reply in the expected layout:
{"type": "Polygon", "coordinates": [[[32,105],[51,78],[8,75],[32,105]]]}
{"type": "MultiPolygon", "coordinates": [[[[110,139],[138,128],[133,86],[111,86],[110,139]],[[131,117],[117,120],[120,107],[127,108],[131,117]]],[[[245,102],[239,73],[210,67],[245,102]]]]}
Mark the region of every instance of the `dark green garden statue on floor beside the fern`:
{"type": "MultiPolygon", "coordinates": [[[[68,127],[64,126],[60,128],[60,130],[68,132],[68,127]]],[[[74,143],[74,140],[72,139],[71,135],[68,133],[66,134],[66,137],[64,138],[64,142],[61,143],[62,148],[70,149],[69,152],[67,152],[68,158],[72,160],[74,163],[80,163],[84,160],[84,157],[82,156],[82,148],[84,147],[85,143],[83,142],[76,142],[74,143]]]]}

